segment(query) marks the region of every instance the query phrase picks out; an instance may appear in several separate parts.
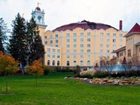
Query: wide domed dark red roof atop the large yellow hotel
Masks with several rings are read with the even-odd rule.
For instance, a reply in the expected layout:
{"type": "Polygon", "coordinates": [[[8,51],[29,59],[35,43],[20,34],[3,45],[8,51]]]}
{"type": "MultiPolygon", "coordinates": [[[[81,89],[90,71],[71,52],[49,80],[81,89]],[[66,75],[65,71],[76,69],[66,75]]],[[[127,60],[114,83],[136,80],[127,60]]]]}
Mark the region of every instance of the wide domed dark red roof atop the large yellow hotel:
{"type": "MultiPolygon", "coordinates": [[[[89,21],[83,20],[78,23],[70,23],[70,24],[60,26],[60,27],[54,29],[53,31],[66,31],[66,30],[73,30],[75,28],[82,28],[84,30],[87,30],[87,29],[92,29],[92,30],[104,29],[104,30],[106,30],[108,28],[114,28],[114,27],[107,25],[107,24],[95,23],[95,22],[89,22],[89,21]]],[[[114,29],[118,31],[118,29],[116,29],[116,28],[114,28],[114,29]]]]}

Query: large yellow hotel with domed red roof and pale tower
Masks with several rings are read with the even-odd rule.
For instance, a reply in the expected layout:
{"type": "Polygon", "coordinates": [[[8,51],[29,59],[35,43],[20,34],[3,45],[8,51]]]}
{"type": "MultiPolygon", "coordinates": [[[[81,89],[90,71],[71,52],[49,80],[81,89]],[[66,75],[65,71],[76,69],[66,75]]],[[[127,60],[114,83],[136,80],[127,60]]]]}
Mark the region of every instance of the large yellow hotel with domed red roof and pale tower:
{"type": "Polygon", "coordinates": [[[45,30],[44,11],[36,7],[32,16],[39,25],[45,46],[45,65],[48,66],[93,67],[102,57],[111,59],[112,51],[126,44],[122,21],[119,29],[83,20],[49,31],[45,30]]]}

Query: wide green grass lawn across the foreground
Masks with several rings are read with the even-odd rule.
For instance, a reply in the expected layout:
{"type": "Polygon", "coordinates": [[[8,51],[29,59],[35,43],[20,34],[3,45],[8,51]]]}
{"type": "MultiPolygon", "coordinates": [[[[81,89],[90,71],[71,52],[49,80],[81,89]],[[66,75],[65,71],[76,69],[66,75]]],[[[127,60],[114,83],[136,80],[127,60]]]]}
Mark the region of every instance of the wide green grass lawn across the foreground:
{"type": "MultiPolygon", "coordinates": [[[[140,86],[100,86],[65,80],[66,73],[40,77],[9,77],[10,93],[0,93],[0,105],[140,105],[140,86]]],[[[0,77],[0,89],[3,88],[0,77]]]]}

